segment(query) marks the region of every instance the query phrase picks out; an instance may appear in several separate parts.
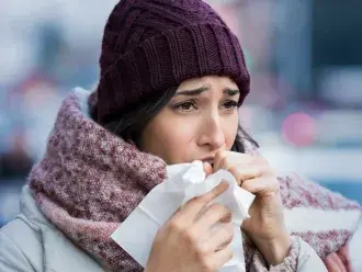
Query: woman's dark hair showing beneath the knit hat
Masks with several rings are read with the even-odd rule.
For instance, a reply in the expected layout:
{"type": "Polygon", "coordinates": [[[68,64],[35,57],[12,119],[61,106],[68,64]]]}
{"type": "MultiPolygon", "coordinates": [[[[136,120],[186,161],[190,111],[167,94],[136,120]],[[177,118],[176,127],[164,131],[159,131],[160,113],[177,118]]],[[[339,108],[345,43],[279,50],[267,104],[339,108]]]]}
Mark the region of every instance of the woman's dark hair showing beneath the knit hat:
{"type": "MultiPolygon", "coordinates": [[[[140,146],[140,135],[146,125],[157,113],[170,101],[177,91],[177,87],[169,88],[161,95],[150,95],[145,98],[131,112],[124,114],[121,120],[101,124],[110,132],[122,137],[127,141],[133,141],[138,148],[140,146]]],[[[233,151],[245,152],[244,141],[247,140],[254,147],[259,147],[258,143],[239,125],[235,143],[231,147],[233,151]]]]}

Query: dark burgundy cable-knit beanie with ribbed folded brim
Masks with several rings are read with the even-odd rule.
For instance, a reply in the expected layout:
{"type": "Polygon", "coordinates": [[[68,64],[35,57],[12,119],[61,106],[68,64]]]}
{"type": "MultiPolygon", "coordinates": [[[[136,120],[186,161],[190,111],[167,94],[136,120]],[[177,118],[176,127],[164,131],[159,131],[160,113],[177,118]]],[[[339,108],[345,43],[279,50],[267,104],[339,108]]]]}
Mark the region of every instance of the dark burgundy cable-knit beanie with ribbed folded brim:
{"type": "Polygon", "coordinates": [[[195,77],[229,76],[240,104],[250,88],[237,37],[201,0],[121,0],[104,29],[100,68],[101,124],[195,77]]]}

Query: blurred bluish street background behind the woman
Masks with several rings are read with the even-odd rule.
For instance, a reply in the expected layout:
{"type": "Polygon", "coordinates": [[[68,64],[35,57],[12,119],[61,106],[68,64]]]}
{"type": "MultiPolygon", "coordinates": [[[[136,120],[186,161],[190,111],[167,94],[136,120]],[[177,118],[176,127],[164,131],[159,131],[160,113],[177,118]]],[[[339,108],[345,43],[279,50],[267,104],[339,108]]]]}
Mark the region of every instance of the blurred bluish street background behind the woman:
{"type": "MultiPolygon", "coordinates": [[[[97,82],[116,2],[0,1],[0,226],[61,100],[97,82]]],[[[263,155],[362,204],[362,1],[207,2],[240,38],[252,78],[240,115],[263,155]]]]}

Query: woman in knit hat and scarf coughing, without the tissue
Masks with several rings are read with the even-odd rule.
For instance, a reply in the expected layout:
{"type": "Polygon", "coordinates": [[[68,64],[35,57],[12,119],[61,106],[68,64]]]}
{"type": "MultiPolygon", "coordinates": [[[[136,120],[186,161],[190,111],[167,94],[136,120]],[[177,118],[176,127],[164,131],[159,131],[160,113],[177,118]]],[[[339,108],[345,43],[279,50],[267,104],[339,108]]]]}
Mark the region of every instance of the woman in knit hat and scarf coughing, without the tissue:
{"type": "Polygon", "coordinates": [[[104,30],[100,66],[97,91],[77,90],[63,103],[23,190],[22,213],[1,229],[1,271],[217,271],[231,258],[230,212],[204,207],[224,183],[159,229],[146,268],[110,238],[167,178],[167,165],[193,160],[204,162],[206,174],[228,170],[257,195],[240,226],[247,271],[326,271],[321,258],[330,253],[330,271],[346,271],[343,246],[360,207],[276,177],[258,155],[238,125],[250,84],[242,50],[207,4],[121,1],[104,30]],[[337,212],[346,224],[319,230],[292,224],[314,212],[337,212]],[[216,223],[223,228],[211,233],[216,223]]]}

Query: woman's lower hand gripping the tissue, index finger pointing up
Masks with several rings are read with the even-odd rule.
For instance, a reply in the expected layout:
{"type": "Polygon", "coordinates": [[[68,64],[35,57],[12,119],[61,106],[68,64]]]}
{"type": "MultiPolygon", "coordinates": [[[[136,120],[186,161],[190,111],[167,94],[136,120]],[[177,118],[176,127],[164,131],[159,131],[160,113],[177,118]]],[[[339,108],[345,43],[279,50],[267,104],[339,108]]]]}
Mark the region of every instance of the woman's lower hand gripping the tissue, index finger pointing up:
{"type": "Polygon", "coordinates": [[[211,272],[231,259],[231,214],[223,205],[208,206],[227,186],[222,182],[211,192],[192,199],[159,229],[146,272],[211,272]]]}

